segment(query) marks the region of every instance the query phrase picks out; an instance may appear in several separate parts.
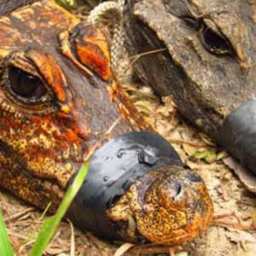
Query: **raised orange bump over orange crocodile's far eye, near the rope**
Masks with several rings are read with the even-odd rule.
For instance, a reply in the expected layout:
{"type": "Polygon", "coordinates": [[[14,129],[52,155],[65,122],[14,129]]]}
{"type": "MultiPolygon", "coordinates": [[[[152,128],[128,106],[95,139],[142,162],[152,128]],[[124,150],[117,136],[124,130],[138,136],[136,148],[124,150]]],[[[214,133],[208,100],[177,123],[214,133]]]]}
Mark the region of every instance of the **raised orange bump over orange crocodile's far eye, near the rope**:
{"type": "Polygon", "coordinates": [[[89,67],[103,80],[111,78],[108,39],[101,29],[79,23],[71,32],[69,41],[81,64],[89,67]]]}

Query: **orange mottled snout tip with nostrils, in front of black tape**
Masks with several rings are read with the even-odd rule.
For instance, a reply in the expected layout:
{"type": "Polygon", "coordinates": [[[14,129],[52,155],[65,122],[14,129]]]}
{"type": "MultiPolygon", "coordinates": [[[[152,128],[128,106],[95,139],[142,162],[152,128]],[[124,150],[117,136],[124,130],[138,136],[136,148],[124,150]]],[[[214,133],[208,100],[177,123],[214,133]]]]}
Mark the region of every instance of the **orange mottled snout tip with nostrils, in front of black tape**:
{"type": "Polygon", "coordinates": [[[180,166],[172,166],[171,176],[169,172],[166,167],[149,172],[109,210],[110,218],[120,221],[120,232],[127,240],[136,241],[139,230],[148,241],[177,245],[207,230],[212,201],[201,177],[188,175],[180,166]]]}

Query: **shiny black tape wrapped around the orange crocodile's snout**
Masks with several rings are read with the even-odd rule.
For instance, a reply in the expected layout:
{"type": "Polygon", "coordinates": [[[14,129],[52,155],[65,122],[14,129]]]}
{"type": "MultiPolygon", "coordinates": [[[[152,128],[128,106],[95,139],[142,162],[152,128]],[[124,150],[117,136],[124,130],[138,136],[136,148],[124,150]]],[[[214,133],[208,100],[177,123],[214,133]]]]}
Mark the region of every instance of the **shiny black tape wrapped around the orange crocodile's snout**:
{"type": "MultiPolygon", "coordinates": [[[[81,229],[94,231],[108,239],[119,239],[106,214],[108,209],[125,195],[131,183],[171,164],[183,166],[172,146],[153,132],[134,131],[111,139],[92,155],[88,175],[67,217],[81,229]]],[[[150,183],[147,178],[146,183],[150,183]]],[[[167,195],[178,197],[182,184],[169,180],[165,184],[167,195]]],[[[140,195],[143,195],[143,189],[147,186],[142,188],[140,195]]]]}

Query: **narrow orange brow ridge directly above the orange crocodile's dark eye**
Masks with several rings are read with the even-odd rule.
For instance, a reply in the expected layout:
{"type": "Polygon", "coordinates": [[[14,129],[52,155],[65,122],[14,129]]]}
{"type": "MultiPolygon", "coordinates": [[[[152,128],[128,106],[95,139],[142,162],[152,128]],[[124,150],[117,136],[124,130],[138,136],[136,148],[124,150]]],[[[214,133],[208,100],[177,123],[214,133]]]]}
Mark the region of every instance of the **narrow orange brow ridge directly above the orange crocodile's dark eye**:
{"type": "Polygon", "coordinates": [[[27,53],[27,56],[38,67],[39,73],[42,74],[46,82],[54,91],[58,101],[65,102],[65,83],[63,81],[61,68],[55,62],[54,57],[49,54],[43,54],[37,50],[30,50],[27,53]]]}

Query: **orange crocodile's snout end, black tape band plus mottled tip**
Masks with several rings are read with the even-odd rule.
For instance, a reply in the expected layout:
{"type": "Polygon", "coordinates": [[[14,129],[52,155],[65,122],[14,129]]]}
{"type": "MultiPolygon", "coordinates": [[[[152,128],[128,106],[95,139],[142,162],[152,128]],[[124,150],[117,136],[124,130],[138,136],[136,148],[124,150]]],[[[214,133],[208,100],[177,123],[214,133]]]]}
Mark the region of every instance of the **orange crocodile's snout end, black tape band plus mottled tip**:
{"type": "Polygon", "coordinates": [[[93,154],[67,217],[108,239],[171,245],[207,229],[212,201],[163,137],[130,132],[93,154]]]}

